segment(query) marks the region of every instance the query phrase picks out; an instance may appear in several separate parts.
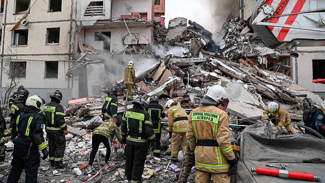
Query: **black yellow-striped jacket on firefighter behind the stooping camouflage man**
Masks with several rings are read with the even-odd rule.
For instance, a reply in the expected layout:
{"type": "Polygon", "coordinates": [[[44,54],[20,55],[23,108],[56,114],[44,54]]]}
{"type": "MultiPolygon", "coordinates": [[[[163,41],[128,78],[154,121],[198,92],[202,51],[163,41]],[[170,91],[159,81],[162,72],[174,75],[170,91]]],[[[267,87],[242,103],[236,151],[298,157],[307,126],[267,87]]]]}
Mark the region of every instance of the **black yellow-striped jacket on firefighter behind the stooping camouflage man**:
{"type": "Polygon", "coordinates": [[[105,103],[102,107],[102,115],[105,120],[117,116],[117,96],[111,93],[110,96],[106,97],[105,103]]]}

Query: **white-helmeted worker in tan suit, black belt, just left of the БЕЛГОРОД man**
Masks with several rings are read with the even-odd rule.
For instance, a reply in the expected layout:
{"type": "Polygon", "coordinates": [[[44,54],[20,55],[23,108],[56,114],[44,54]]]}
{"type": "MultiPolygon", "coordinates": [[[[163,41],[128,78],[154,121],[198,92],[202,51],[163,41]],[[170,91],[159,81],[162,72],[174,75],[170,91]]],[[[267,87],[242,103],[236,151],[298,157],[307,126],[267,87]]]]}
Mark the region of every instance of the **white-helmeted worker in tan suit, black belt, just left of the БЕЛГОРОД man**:
{"type": "Polygon", "coordinates": [[[181,148],[183,154],[185,155],[186,144],[187,144],[187,127],[188,127],[188,117],[186,111],[177,106],[177,101],[172,99],[168,100],[165,105],[167,110],[168,117],[168,128],[169,128],[169,137],[172,138],[172,162],[177,161],[178,148],[179,148],[179,139],[182,137],[181,148]]]}

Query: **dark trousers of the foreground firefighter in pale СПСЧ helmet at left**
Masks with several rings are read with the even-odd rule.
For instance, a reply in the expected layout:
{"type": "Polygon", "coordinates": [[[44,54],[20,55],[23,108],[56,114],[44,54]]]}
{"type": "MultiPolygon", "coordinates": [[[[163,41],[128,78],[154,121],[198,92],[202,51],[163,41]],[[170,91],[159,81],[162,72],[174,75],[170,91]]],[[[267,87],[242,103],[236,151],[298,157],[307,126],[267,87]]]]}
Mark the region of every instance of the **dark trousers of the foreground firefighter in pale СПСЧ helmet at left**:
{"type": "Polygon", "coordinates": [[[37,146],[31,147],[29,159],[27,158],[29,146],[16,142],[14,145],[13,159],[11,161],[11,170],[7,183],[18,183],[21,172],[25,169],[25,183],[37,182],[37,172],[40,166],[40,153],[37,146]]]}

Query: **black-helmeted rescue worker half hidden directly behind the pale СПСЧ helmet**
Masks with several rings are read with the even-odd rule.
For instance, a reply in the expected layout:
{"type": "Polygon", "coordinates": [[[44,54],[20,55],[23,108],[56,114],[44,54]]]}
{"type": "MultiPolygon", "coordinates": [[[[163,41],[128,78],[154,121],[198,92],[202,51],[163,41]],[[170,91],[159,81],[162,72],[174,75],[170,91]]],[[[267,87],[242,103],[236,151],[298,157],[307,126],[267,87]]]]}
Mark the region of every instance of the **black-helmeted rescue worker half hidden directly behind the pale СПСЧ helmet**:
{"type": "Polygon", "coordinates": [[[12,126],[16,122],[17,116],[25,110],[26,99],[28,98],[29,92],[26,89],[20,89],[17,92],[14,103],[10,107],[10,131],[11,139],[17,137],[17,131],[12,126]]]}

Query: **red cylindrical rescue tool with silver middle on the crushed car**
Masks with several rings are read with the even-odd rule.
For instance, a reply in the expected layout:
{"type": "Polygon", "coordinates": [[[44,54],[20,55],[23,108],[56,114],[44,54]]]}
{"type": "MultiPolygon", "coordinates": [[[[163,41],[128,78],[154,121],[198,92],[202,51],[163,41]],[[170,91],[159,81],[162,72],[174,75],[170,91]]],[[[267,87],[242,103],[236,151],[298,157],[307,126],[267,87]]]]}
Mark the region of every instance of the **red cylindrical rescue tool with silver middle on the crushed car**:
{"type": "Polygon", "coordinates": [[[252,167],[251,172],[256,172],[256,174],[262,174],[268,176],[277,176],[286,179],[292,178],[297,180],[308,180],[308,181],[320,182],[320,177],[317,175],[301,173],[301,172],[292,172],[288,170],[276,170],[271,168],[252,167]]]}

